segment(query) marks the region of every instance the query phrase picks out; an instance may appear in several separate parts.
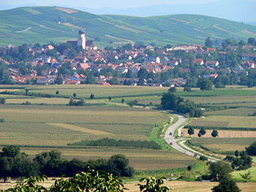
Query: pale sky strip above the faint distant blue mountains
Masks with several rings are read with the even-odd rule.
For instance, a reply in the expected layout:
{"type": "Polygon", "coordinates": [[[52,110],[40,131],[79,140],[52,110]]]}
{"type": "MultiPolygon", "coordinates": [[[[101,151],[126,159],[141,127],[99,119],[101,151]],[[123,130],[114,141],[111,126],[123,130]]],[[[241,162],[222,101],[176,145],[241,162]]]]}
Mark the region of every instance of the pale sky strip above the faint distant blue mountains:
{"type": "MultiPolygon", "coordinates": [[[[88,7],[88,8],[102,8],[110,7],[114,9],[124,9],[128,7],[142,7],[150,6],[154,4],[205,4],[208,2],[214,2],[219,0],[97,0],[97,1],[88,1],[88,0],[8,0],[0,1],[1,5],[15,5],[15,6],[26,6],[28,4],[34,4],[35,6],[39,5],[64,5],[67,7],[88,7]]],[[[249,1],[249,0],[245,0],[249,1]]],[[[252,0],[253,1],[253,0],[252,0]]]]}

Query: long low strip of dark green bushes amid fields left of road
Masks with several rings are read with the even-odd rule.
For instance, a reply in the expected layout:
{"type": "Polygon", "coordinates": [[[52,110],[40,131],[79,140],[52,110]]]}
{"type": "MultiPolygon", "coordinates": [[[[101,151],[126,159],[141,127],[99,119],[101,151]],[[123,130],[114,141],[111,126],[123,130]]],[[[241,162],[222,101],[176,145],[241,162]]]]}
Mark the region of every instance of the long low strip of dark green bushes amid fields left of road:
{"type": "Polygon", "coordinates": [[[115,139],[99,139],[94,141],[81,141],[71,143],[69,145],[75,146],[108,146],[108,147],[145,147],[149,149],[160,150],[162,147],[156,142],[148,141],[124,141],[124,140],[115,140],[115,139]]]}

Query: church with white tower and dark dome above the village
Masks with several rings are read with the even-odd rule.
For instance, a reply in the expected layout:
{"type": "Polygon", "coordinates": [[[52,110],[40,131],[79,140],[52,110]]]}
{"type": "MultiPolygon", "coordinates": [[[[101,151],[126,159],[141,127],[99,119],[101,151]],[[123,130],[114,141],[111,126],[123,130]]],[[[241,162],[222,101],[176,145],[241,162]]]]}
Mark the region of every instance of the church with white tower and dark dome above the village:
{"type": "Polygon", "coordinates": [[[77,41],[67,41],[72,45],[72,47],[83,47],[84,50],[97,50],[97,46],[94,44],[94,41],[86,41],[86,33],[81,28],[78,31],[78,40],[77,41]]]}

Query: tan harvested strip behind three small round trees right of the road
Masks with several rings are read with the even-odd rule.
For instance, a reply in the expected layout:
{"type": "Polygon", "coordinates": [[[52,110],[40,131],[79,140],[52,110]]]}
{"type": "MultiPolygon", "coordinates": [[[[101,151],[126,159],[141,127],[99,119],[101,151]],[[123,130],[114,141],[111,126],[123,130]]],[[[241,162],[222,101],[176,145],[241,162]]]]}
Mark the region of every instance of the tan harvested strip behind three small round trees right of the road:
{"type": "MultiPolygon", "coordinates": [[[[199,129],[194,129],[195,134],[192,137],[198,137],[197,134],[199,133],[199,129]]],[[[211,138],[212,129],[206,129],[206,134],[203,135],[205,138],[211,138]]],[[[255,131],[230,131],[230,130],[217,130],[218,131],[218,138],[233,138],[233,137],[255,137],[256,138],[256,130],[255,131]]],[[[187,128],[182,129],[182,135],[185,137],[189,137],[187,133],[187,128]]]]}

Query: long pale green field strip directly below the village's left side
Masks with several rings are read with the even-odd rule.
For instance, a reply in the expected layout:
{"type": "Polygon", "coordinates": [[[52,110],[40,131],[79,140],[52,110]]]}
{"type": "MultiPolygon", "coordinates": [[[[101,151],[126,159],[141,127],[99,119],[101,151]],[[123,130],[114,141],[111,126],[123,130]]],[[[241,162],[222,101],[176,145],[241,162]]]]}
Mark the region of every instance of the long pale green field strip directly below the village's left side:
{"type": "Polygon", "coordinates": [[[84,99],[89,99],[89,96],[93,93],[95,99],[108,99],[108,96],[122,98],[127,96],[158,95],[165,93],[168,89],[124,85],[31,85],[20,87],[20,89],[17,88],[19,88],[17,85],[1,86],[0,91],[19,91],[20,93],[25,93],[24,88],[28,88],[29,93],[49,93],[55,95],[56,91],[59,91],[59,96],[72,96],[73,93],[76,93],[78,98],[84,99]]]}

